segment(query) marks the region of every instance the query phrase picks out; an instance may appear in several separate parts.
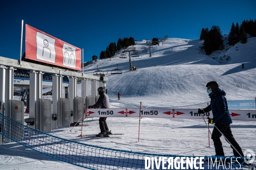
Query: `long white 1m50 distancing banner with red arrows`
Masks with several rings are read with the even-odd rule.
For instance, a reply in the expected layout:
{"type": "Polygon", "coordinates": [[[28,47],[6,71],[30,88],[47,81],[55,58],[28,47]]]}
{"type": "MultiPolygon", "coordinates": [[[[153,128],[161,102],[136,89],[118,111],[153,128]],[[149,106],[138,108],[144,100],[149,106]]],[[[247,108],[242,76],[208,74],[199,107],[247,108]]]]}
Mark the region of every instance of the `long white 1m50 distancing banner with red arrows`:
{"type": "MultiPolygon", "coordinates": [[[[85,109],[87,117],[147,117],[147,118],[212,118],[212,112],[199,115],[198,109],[124,108],[85,109]]],[[[232,120],[256,121],[256,110],[229,110],[232,120]]]]}

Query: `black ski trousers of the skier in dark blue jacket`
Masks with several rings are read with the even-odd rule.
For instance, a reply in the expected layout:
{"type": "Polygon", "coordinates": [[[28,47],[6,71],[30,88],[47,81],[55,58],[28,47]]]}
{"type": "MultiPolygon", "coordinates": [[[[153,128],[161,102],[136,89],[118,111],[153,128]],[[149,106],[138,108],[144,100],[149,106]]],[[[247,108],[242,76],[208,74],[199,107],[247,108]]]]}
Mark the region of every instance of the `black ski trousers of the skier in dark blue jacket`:
{"type": "MultiPolygon", "coordinates": [[[[243,151],[241,150],[241,147],[239,144],[235,141],[234,136],[232,135],[230,124],[215,124],[216,127],[223,133],[223,135],[227,138],[226,141],[230,141],[230,143],[235,147],[235,149],[241,154],[241,156],[244,156],[243,151]]],[[[217,156],[224,156],[224,151],[221,143],[221,133],[218,131],[218,129],[214,127],[212,131],[212,140],[215,147],[215,153],[217,156]]],[[[230,145],[230,147],[233,149],[234,156],[240,156],[235,149],[230,145]]]]}

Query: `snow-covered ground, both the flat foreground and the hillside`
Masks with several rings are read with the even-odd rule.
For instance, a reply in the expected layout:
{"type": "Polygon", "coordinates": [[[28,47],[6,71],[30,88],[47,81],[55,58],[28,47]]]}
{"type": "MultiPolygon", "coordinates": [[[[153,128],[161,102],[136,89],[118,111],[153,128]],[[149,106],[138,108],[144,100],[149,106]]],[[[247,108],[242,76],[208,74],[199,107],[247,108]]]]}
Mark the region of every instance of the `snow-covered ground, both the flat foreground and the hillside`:
{"type": "MultiPolygon", "coordinates": [[[[132,66],[137,71],[129,71],[129,56],[121,59],[121,52],[110,59],[100,60],[86,66],[85,74],[103,70],[109,78],[107,89],[109,98],[126,104],[149,107],[174,107],[200,104],[209,100],[205,85],[218,81],[220,88],[227,93],[227,100],[253,100],[256,97],[256,37],[249,38],[246,44],[237,43],[226,46],[226,51],[215,52],[210,57],[200,51],[203,41],[168,38],[159,46],[143,53],[141,47],[146,40],[137,41],[136,50],[140,57],[132,58],[132,66]],[[225,56],[225,57],[224,57],[225,56]],[[229,60],[226,60],[230,56],[229,60]],[[224,58],[223,58],[224,57],[224,58]],[[213,59],[215,58],[215,59],[213,59]],[[241,64],[244,63],[244,69],[241,64]],[[122,69],[123,74],[111,75],[112,69],[122,69]],[[154,66],[156,64],[156,66],[154,66]]],[[[146,48],[148,49],[148,47],[146,48]]],[[[89,83],[89,92],[91,94],[89,83]]],[[[47,89],[44,89],[47,91],[47,89]]],[[[50,90],[49,90],[50,91],[50,90]]],[[[81,86],[77,86],[81,96],[81,86]]],[[[50,96],[48,98],[51,98],[50,96]]],[[[78,138],[81,127],[54,130],[54,135],[86,144],[110,147],[135,152],[176,154],[182,156],[215,155],[213,142],[208,144],[208,130],[201,119],[142,118],[140,140],[138,142],[138,118],[107,118],[113,133],[124,133],[122,138],[78,138]]],[[[99,132],[97,118],[88,119],[82,128],[83,134],[99,132]]],[[[211,127],[212,129],[212,127],[211,127]]],[[[232,133],[242,150],[250,149],[256,153],[255,121],[234,121],[232,133]]],[[[52,132],[50,133],[52,134],[52,132]]],[[[232,155],[230,145],[223,141],[224,153],[232,155]]],[[[43,170],[43,169],[83,169],[63,163],[26,149],[16,143],[0,145],[0,170],[43,170]]]]}

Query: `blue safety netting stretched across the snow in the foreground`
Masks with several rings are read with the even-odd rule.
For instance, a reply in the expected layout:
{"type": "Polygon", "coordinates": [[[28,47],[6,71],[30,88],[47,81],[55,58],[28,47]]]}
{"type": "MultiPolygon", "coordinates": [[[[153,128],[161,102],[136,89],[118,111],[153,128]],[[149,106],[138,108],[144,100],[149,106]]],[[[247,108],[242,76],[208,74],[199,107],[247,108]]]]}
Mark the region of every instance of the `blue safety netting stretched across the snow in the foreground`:
{"type": "MultiPolygon", "coordinates": [[[[117,150],[71,141],[24,126],[2,113],[0,113],[0,135],[50,158],[91,170],[143,170],[145,169],[145,157],[156,157],[156,160],[159,160],[160,157],[173,157],[173,159],[178,158],[178,160],[181,157],[186,157],[117,150]]],[[[189,158],[191,157],[195,158],[195,156],[189,156],[189,158]]],[[[204,157],[206,160],[208,159],[208,156],[204,157]]],[[[211,156],[209,158],[215,159],[216,157],[211,156]]],[[[240,164],[233,163],[232,168],[240,167],[240,164]]],[[[199,161],[195,165],[199,167],[199,161]]],[[[168,163],[165,167],[167,166],[168,163]]],[[[203,164],[203,167],[209,169],[207,162],[203,164]]],[[[247,168],[248,166],[244,167],[247,168]]],[[[241,169],[244,167],[242,166],[241,169]]],[[[154,169],[156,169],[156,165],[154,169]]],[[[162,165],[160,169],[162,169],[162,165]]],[[[216,167],[211,169],[224,169],[224,167],[217,168],[216,164],[216,167]]]]}

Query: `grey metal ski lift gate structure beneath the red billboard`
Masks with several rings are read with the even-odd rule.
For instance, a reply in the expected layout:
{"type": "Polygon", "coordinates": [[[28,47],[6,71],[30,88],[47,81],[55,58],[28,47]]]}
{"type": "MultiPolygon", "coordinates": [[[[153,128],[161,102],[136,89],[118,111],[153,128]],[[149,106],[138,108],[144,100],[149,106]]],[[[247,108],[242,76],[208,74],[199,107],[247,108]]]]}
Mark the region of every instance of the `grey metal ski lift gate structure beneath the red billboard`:
{"type": "MultiPolygon", "coordinates": [[[[29,70],[29,118],[27,126],[42,132],[50,132],[54,128],[69,126],[82,118],[84,105],[97,102],[97,88],[104,87],[109,78],[104,75],[94,76],[43,66],[0,56],[0,112],[8,118],[24,125],[24,102],[14,100],[15,69],[29,70]],[[52,100],[42,97],[44,73],[52,74],[52,100]],[[62,97],[63,76],[68,78],[68,95],[62,97]],[[77,97],[77,79],[81,80],[81,97],[77,97]],[[88,83],[91,82],[91,96],[88,96],[88,83]]],[[[66,92],[66,91],[65,91],[66,92]]],[[[2,124],[7,127],[10,124],[2,124]]],[[[10,126],[10,128],[15,128],[10,126]]],[[[15,129],[13,129],[15,130],[15,129]]],[[[12,136],[10,130],[6,136],[12,136]]],[[[22,140],[17,138],[17,140],[22,140]]],[[[0,144],[11,142],[11,139],[0,135],[0,144]]]]}

